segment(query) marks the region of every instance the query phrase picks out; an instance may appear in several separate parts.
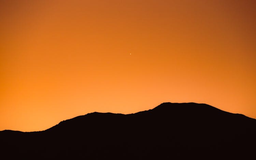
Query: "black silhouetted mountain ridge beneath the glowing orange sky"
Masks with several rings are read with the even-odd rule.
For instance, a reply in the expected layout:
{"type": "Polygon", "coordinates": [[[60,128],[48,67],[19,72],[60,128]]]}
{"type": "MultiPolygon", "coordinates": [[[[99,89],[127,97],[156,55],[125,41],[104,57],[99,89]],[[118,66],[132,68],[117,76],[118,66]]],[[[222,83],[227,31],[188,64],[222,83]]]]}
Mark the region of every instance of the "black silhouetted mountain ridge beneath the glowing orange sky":
{"type": "Polygon", "coordinates": [[[4,159],[255,159],[256,119],[168,102],[127,115],[89,113],[44,131],[0,131],[0,146],[4,159]]]}

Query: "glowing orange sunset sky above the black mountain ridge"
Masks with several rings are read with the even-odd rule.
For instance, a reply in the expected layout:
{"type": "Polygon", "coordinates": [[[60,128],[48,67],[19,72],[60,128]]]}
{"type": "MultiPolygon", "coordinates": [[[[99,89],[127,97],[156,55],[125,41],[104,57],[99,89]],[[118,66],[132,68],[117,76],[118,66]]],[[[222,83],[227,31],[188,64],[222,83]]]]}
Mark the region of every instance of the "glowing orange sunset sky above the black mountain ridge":
{"type": "Polygon", "coordinates": [[[253,0],[1,0],[0,130],[162,102],[256,118],[255,8],[253,0]]]}

